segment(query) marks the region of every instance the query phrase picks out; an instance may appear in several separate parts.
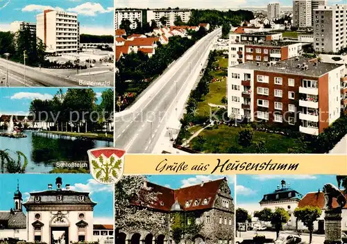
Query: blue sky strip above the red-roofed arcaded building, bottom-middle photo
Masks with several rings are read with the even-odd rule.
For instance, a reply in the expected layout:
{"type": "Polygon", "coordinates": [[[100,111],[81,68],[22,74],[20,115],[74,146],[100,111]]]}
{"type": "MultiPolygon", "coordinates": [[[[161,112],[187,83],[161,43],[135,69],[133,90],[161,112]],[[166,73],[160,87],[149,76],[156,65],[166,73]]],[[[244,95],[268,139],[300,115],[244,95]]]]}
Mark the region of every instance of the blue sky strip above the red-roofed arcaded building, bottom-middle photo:
{"type": "Polygon", "coordinates": [[[185,186],[192,186],[194,184],[201,184],[201,182],[208,182],[209,180],[218,180],[226,177],[231,191],[231,196],[234,198],[235,192],[235,177],[234,175],[147,175],[150,182],[169,187],[171,189],[178,189],[185,186]]]}

